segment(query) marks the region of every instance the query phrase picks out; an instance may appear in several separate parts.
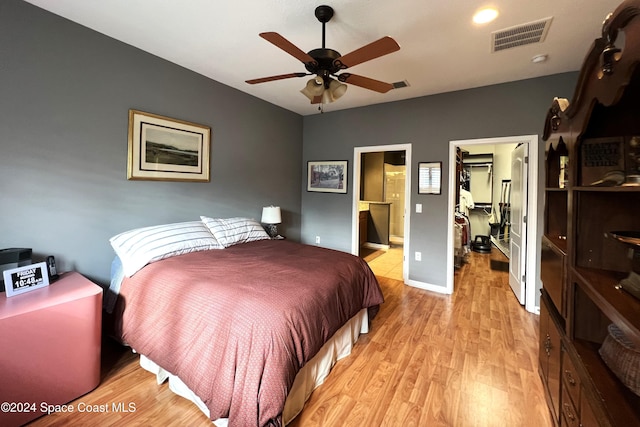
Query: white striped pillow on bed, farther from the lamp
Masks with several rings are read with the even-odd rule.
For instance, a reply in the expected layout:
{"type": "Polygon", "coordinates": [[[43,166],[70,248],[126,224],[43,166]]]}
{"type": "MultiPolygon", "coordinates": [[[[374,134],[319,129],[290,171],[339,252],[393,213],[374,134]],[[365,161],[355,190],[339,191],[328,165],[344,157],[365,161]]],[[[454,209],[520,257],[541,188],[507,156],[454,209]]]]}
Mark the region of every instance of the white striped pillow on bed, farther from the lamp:
{"type": "Polygon", "coordinates": [[[137,228],[113,236],[109,242],[120,257],[127,277],[164,258],[224,248],[201,221],[137,228]]]}

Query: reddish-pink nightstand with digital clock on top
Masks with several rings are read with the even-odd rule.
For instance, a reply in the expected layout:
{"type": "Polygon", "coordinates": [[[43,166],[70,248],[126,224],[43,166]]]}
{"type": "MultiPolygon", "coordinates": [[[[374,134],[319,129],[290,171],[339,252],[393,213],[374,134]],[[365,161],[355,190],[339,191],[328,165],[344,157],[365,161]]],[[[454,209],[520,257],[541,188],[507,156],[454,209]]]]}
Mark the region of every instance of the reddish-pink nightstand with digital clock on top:
{"type": "Polygon", "coordinates": [[[102,288],[79,273],[10,298],[0,294],[0,425],[24,424],[46,413],[43,402],[65,404],[96,388],[101,328],[102,288]]]}

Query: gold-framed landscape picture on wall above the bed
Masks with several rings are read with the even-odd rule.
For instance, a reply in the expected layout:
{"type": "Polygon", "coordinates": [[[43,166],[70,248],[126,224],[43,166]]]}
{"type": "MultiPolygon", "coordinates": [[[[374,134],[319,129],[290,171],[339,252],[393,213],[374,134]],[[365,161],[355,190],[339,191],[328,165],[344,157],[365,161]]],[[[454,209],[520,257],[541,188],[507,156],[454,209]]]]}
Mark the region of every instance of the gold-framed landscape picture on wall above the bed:
{"type": "Polygon", "coordinates": [[[209,181],[211,128],[129,110],[127,179],[209,181]]]}

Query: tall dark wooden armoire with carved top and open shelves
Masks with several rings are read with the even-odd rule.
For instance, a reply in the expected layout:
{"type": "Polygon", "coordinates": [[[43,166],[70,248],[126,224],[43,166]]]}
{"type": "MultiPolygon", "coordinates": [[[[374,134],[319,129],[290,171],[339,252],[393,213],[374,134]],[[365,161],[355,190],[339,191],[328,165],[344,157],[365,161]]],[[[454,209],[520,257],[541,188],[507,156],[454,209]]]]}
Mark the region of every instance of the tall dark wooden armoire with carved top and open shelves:
{"type": "Polygon", "coordinates": [[[544,126],[540,376],[558,426],[640,426],[640,0],[603,20],[544,126]],[[602,355],[612,328],[625,369],[602,355]]]}

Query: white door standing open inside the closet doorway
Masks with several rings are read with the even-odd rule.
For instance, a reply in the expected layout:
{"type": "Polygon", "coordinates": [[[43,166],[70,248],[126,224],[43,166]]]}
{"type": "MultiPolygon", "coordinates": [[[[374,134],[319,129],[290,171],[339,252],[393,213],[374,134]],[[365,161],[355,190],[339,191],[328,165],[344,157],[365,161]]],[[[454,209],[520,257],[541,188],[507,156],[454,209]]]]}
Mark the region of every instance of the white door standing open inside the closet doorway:
{"type": "Polygon", "coordinates": [[[525,263],[527,255],[527,156],[528,144],[516,147],[511,153],[511,225],[509,227],[509,285],[520,304],[525,297],[525,263]]]}

